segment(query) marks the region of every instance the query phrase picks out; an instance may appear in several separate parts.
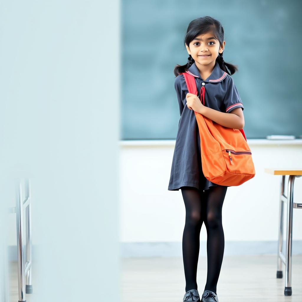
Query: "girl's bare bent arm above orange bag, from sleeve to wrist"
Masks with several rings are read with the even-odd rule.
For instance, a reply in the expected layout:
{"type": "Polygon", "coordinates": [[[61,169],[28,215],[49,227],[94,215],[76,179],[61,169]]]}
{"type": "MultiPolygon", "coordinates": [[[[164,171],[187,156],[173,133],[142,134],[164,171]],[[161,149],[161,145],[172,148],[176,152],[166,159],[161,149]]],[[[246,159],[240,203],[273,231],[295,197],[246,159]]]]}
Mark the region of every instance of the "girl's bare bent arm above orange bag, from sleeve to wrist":
{"type": "Polygon", "coordinates": [[[201,112],[198,113],[224,127],[234,129],[243,129],[244,127],[244,116],[242,108],[235,108],[229,113],[225,113],[206,106],[202,106],[200,111],[201,112]]]}

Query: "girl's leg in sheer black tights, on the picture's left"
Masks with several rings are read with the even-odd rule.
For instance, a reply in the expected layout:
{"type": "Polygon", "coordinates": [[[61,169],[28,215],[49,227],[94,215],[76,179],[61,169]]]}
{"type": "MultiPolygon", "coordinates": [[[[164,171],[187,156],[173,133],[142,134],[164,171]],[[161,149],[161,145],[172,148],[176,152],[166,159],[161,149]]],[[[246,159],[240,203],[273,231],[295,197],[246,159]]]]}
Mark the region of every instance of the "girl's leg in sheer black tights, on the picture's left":
{"type": "Polygon", "coordinates": [[[202,199],[204,192],[193,187],[181,187],[185,202],[186,218],[182,236],[182,256],[185,269],[185,291],[197,289],[197,263],[199,255],[199,237],[203,223],[202,199]]]}

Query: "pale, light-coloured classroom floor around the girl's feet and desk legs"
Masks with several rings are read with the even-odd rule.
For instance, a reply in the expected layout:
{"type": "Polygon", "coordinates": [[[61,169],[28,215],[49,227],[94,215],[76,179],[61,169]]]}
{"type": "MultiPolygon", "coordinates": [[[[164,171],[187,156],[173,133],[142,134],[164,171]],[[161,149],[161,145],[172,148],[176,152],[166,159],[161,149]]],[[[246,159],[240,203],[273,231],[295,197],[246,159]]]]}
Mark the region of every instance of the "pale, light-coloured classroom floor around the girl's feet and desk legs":
{"type": "MultiPolygon", "coordinates": [[[[284,296],[283,278],[276,278],[275,255],[224,256],[217,284],[219,302],[302,301],[302,255],[292,257],[292,296],[284,296]]],[[[33,290],[35,275],[33,263],[33,290]]],[[[10,302],[18,302],[17,262],[10,262],[10,302]]],[[[198,261],[197,282],[201,295],[206,283],[207,259],[198,261]]],[[[121,261],[120,296],[122,302],[182,302],[185,276],[182,258],[127,258],[121,261]]],[[[95,289],[98,292],[97,289],[95,289]]],[[[51,293],[48,293],[51,295],[51,293]]],[[[102,296],[104,297],[104,296],[102,296]]],[[[27,302],[34,299],[27,294],[27,302]]],[[[104,301],[107,302],[104,297],[104,301]]],[[[59,302],[59,301],[58,301],[59,302]]],[[[68,302],[68,301],[67,301],[68,302]]],[[[85,301],[88,302],[88,301],[85,301]]],[[[92,302],[92,301],[91,301],[92,302]]]]}

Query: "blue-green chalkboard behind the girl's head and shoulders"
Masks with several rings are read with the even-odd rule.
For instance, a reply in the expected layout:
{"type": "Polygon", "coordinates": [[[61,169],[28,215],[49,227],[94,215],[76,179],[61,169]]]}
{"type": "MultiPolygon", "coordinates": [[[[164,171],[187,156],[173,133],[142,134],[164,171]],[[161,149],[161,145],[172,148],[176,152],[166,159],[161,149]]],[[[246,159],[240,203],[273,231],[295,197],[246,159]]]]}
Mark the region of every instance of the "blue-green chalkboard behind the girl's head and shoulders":
{"type": "Polygon", "coordinates": [[[300,136],[301,8],[300,1],[279,0],[123,1],[120,139],[175,139],[180,116],[173,69],[187,62],[189,22],[206,15],[222,23],[224,60],[239,68],[232,77],[246,137],[300,136]]]}

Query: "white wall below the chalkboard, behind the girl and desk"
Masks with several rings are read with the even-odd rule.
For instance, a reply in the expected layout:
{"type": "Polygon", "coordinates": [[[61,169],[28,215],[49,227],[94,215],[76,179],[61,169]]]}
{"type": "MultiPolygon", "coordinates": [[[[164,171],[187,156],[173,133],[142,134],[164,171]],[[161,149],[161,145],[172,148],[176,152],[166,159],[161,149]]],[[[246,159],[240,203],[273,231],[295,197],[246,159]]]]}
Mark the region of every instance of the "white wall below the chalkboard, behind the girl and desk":
{"type": "MultiPolygon", "coordinates": [[[[227,190],[223,203],[226,241],[277,240],[281,176],[269,175],[264,168],[302,169],[301,141],[247,140],[256,175],[227,190]]],[[[168,191],[174,146],[175,140],[120,142],[122,243],[181,242],[185,223],[182,194],[168,191]]],[[[302,177],[296,178],[296,202],[301,202],[301,185],[302,177]]],[[[301,240],[302,210],[293,212],[293,240],[301,240]]],[[[201,240],[206,240],[205,227],[201,240]]]]}

